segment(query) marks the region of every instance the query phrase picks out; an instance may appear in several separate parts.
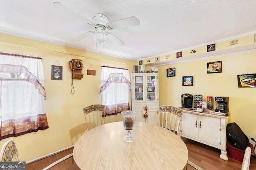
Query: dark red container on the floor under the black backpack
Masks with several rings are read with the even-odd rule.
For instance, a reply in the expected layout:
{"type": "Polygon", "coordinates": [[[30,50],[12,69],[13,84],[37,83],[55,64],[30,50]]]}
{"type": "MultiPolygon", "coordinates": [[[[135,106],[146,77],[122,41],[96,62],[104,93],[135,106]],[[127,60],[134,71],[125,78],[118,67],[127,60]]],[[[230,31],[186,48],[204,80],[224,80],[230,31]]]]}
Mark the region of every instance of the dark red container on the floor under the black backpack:
{"type": "MultiPolygon", "coordinates": [[[[253,153],[252,144],[250,144],[250,148],[252,150],[251,153],[253,153]]],[[[235,148],[235,146],[230,141],[227,142],[227,149],[228,149],[230,158],[243,162],[245,150],[235,148]]]]}

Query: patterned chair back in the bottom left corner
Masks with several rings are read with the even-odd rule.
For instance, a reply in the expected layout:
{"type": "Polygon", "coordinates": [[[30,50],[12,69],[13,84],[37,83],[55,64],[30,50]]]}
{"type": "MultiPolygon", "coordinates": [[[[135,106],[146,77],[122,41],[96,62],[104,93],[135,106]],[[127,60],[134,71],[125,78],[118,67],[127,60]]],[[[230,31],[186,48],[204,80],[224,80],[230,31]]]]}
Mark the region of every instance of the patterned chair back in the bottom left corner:
{"type": "Polygon", "coordinates": [[[20,162],[20,156],[13,139],[4,143],[0,151],[1,162],[20,162]]]}

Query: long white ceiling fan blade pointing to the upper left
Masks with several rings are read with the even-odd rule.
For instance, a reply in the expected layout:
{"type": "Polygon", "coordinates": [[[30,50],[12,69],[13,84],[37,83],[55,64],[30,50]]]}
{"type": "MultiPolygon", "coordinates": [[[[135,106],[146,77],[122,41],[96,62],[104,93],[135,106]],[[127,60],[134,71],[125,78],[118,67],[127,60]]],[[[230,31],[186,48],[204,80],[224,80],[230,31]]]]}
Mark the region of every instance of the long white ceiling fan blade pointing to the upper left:
{"type": "Polygon", "coordinates": [[[60,3],[60,2],[54,2],[53,6],[55,6],[56,8],[59,8],[60,10],[64,11],[64,12],[68,12],[69,14],[71,14],[72,16],[88,23],[91,25],[95,25],[91,20],[89,20],[88,18],[85,18],[84,16],[82,16],[81,14],[79,14],[78,12],[76,12],[75,10],[73,10],[72,8],[60,3]]]}

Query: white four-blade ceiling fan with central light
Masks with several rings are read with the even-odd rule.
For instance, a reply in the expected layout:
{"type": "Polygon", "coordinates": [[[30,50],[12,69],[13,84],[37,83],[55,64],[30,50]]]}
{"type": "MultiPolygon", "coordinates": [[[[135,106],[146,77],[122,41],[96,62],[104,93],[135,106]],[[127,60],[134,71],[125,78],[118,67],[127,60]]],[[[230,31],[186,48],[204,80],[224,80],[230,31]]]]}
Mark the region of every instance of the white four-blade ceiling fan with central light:
{"type": "Polygon", "coordinates": [[[124,18],[122,20],[108,22],[107,16],[105,16],[103,14],[94,14],[92,16],[92,21],[91,21],[88,18],[86,18],[86,17],[82,16],[81,14],[79,14],[78,12],[76,12],[75,10],[73,10],[72,8],[70,8],[60,2],[54,2],[53,6],[55,6],[56,8],[59,8],[60,10],[62,10],[64,12],[71,14],[72,16],[74,16],[82,21],[85,21],[89,25],[94,26],[94,28],[96,29],[95,31],[88,31],[86,33],[83,33],[82,35],[79,35],[78,37],[72,39],[72,41],[80,41],[86,37],[93,35],[96,43],[103,44],[103,43],[106,43],[107,40],[110,40],[110,41],[112,41],[112,43],[114,43],[118,46],[121,46],[121,45],[124,45],[124,42],[121,41],[118,37],[116,37],[112,33],[105,32],[105,30],[140,25],[140,20],[135,16],[132,16],[129,18],[124,18]]]}

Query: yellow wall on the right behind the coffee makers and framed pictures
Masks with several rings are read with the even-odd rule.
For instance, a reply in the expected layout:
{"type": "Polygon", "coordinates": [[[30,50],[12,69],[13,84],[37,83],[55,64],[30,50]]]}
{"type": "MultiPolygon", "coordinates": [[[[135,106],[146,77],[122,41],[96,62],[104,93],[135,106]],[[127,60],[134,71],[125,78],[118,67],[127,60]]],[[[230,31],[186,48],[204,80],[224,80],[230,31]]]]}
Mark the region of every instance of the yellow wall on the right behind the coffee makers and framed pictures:
{"type": "MultiPolygon", "coordinates": [[[[256,51],[158,66],[159,105],[181,107],[184,93],[228,96],[230,122],[236,122],[247,136],[256,136],[256,88],[238,88],[237,75],[256,73],[256,51]],[[207,74],[207,63],[222,61],[222,72],[207,74]],[[166,69],[176,76],[166,77],[166,69]],[[182,86],[182,76],[193,76],[193,86],[182,86]]],[[[216,105],[214,106],[216,108],[216,105]]]]}

